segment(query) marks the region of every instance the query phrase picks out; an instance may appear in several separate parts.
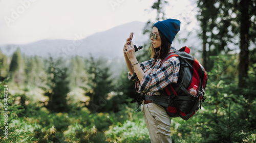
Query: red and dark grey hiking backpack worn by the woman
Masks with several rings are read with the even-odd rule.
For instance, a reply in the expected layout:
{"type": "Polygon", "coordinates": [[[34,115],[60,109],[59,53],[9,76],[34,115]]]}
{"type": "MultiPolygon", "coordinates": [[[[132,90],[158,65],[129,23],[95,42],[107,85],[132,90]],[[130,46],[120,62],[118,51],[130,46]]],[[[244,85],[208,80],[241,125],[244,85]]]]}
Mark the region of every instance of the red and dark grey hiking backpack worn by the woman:
{"type": "MultiPolygon", "coordinates": [[[[180,71],[177,83],[170,83],[163,90],[165,95],[147,96],[145,99],[152,100],[154,103],[162,105],[166,108],[170,117],[180,117],[188,120],[200,108],[204,102],[205,88],[208,76],[203,66],[189,54],[188,47],[182,47],[173,53],[169,53],[162,63],[167,59],[176,56],[180,60],[180,71]],[[188,90],[196,85],[198,87],[197,94],[191,95],[188,90]],[[168,96],[166,96],[166,94],[168,96]]],[[[162,66],[161,63],[161,66],[162,66]]]]}

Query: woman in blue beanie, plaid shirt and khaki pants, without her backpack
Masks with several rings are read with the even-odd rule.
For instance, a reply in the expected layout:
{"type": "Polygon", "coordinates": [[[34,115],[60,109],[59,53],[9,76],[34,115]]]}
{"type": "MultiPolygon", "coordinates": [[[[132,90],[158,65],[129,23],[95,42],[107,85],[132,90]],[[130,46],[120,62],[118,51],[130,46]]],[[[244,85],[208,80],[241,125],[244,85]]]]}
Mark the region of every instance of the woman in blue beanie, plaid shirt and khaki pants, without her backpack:
{"type": "MultiPolygon", "coordinates": [[[[176,57],[166,60],[160,67],[161,61],[169,52],[174,52],[175,48],[171,44],[180,30],[180,21],[176,19],[166,19],[158,21],[153,25],[150,39],[151,60],[138,63],[133,42],[126,39],[123,48],[124,58],[129,69],[128,77],[137,80],[135,89],[144,95],[158,96],[160,90],[169,83],[176,83],[179,76],[180,62],[176,57]],[[131,42],[131,45],[128,43],[131,42]]],[[[153,103],[151,100],[144,100],[141,104],[141,111],[150,133],[151,142],[172,142],[170,137],[170,117],[164,107],[153,103]]]]}

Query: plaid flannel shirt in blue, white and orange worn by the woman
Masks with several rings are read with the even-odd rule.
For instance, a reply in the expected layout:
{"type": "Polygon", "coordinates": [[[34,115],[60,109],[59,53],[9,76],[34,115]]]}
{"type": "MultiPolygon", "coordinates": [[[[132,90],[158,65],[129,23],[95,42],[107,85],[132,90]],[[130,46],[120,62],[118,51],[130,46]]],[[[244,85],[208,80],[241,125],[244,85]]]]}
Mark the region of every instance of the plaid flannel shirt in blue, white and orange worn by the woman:
{"type": "MultiPolygon", "coordinates": [[[[174,52],[175,48],[170,48],[170,52],[174,52]]],[[[177,83],[179,77],[180,61],[173,56],[166,60],[162,66],[161,59],[157,61],[151,59],[140,63],[140,67],[144,72],[142,81],[138,79],[136,73],[133,75],[128,72],[128,78],[130,80],[136,80],[135,89],[138,93],[144,93],[145,95],[161,95],[159,90],[165,88],[169,83],[177,83]],[[154,63],[156,62],[155,66],[154,63]]]]}

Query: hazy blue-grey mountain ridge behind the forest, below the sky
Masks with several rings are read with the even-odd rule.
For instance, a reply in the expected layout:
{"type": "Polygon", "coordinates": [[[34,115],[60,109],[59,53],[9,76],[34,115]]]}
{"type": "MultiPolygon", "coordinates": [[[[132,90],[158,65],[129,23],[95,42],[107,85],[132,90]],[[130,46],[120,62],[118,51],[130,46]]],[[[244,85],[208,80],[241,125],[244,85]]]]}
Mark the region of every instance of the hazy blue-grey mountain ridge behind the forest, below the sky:
{"type": "MultiPolygon", "coordinates": [[[[1,50],[6,55],[11,55],[17,47],[25,55],[38,56],[94,56],[95,58],[103,56],[105,58],[114,58],[122,56],[122,48],[126,38],[134,32],[133,42],[136,45],[142,45],[147,36],[142,35],[145,23],[134,21],[111,28],[108,31],[99,32],[79,40],[40,40],[29,44],[9,44],[0,45],[1,50]]],[[[77,37],[82,37],[77,34],[77,37]]]]}

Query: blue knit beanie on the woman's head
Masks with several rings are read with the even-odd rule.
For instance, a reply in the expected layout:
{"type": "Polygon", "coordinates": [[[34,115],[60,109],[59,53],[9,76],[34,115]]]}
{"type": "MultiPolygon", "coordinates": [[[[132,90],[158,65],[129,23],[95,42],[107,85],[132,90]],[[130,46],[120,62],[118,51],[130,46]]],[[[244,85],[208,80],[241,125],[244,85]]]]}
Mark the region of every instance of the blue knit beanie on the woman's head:
{"type": "Polygon", "coordinates": [[[157,27],[158,30],[161,31],[161,33],[168,39],[170,44],[172,44],[176,34],[180,31],[180,20],[166,19],[156,22],[153,27],[154,26],[157,27]]]}

